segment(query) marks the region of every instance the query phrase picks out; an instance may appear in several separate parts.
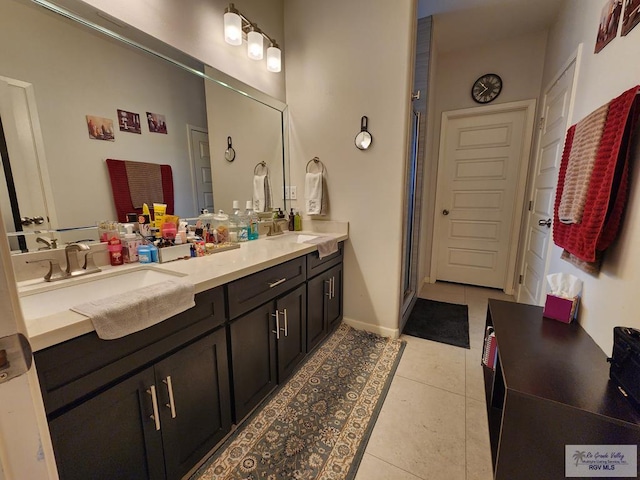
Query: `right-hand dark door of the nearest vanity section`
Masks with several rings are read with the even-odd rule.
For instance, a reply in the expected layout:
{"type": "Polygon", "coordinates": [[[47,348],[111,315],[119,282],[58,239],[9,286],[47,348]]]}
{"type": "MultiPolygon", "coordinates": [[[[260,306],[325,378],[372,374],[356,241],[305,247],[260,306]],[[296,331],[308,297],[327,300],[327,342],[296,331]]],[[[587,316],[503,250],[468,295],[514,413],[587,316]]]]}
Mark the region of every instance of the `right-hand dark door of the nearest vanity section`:
{"type": "Polygon", "coordinates": [[[179,479],[231,429],[226,330],[155,366],[167,478],[179,479]]]}

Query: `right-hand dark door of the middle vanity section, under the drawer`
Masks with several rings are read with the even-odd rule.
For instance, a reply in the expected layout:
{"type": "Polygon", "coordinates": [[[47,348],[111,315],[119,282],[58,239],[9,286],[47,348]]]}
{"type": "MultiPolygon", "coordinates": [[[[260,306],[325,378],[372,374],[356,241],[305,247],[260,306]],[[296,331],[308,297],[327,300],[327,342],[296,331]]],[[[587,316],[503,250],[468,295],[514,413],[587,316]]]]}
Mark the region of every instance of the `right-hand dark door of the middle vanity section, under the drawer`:
{"type": "Polygon", "coordinates": [[[280,335],[278,345],[278,383],[282,383],[307,354],[306,302],[304,285],[276,300],[280,335]]]}

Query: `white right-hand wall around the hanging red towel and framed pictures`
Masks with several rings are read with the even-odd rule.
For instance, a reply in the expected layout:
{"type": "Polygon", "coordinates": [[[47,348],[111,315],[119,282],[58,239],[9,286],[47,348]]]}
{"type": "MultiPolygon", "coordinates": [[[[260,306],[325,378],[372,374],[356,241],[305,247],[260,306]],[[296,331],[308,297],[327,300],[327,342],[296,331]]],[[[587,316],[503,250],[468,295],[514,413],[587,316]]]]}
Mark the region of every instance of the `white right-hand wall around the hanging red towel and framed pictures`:
{"type": "MultiPolygon", "coordinates": [[[[544,84],[583,42],[583,56],[571,123],[576,123],[623,91],[640,83],[640,26],[626,37],[616,37],[594,54],[596,31],[604,2],[568,0],[549,33],[544,84]]],[[[550,272],[568,272],[584,281],[579,321],[605,353],[611,354],[613,327],[640,327],[635,299],[640,285],[639,152],[632,157],[630,197],[618,240],[605,254],[602,271],[588,275],[560,260],[554,246],[550,272]]]]}

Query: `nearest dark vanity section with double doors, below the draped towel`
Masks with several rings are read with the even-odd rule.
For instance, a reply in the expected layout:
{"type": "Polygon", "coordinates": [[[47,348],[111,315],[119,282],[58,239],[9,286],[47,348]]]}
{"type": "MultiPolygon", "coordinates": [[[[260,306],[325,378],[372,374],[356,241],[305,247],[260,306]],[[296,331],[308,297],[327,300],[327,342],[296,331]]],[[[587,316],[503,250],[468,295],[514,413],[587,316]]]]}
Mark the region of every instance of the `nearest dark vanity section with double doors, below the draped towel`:
{"type": "MultiPolygon", "coordinates": [[[[221,288],[197,295],[196,307],[147,329],[160,345],[145,341],[129,355],[113,354],[118,340],[85,336],[36,352],[60,478],[179,479],[226,436],[231,396],[220,301],[221,288]],[[76,370],[60,371],[83,356],[85,342],[98,348],[95,356],[117,360],[89,362],[78,378],[76,370]],[[81,395],[80,387],[89,391],[81,395]]],[[[129,346],[129,337],[120,340],[129,346]]]]}

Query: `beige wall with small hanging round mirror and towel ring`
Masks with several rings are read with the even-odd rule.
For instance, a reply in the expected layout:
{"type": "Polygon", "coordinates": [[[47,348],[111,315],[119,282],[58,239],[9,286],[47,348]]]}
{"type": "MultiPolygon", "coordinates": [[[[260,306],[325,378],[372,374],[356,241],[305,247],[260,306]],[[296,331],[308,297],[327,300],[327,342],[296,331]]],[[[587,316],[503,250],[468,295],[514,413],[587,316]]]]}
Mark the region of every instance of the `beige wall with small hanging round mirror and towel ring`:
{"type": "Polygon", "coordinates": [[[329,218],[349,222],[344,316],[397,333],[415,4],[285,1],[291,178],[327,169],[329,218]],[[369,117],[372,147],[354,137],[369,117]]]}

